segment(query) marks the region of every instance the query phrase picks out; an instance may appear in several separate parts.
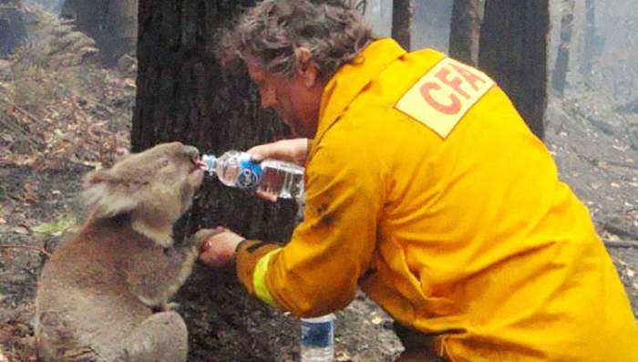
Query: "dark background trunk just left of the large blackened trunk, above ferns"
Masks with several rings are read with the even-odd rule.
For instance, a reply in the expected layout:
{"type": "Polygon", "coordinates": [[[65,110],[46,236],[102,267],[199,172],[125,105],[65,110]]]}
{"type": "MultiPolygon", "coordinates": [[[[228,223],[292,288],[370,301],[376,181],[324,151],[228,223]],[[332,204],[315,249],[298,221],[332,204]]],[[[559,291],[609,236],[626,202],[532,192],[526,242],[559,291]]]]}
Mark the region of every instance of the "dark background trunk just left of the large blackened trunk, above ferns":
{"type": "Polygon", "coordinates": [[[60,16],[96,41],[108,65],[135,50],[138,0],[65,0],[60,16]]]}

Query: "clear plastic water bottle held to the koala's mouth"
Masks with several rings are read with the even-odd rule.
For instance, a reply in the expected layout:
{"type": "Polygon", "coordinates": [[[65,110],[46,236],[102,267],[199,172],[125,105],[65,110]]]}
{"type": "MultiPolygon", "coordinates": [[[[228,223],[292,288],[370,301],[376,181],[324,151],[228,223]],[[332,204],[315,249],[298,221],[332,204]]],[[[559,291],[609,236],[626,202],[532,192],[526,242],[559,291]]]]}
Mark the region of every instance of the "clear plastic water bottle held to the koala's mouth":
{"type": "Polygon", "coordinates": [[[304,195],[304,168],[281,160],[255,162],[246,152],[229,150],[219,158],[201,156],[201,168],[227,186],[262,191],[283,199],[301,200],[304,195]]]}

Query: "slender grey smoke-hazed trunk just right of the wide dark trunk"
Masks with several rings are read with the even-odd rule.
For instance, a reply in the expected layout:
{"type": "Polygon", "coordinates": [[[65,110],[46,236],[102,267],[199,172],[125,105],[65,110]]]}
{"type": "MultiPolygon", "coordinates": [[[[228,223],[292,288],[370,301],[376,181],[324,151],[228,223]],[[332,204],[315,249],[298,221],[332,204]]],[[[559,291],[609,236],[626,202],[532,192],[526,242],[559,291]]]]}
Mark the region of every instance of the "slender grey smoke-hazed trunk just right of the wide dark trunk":
{"type": "Polygon", "coordinates": [[[571,30],[575,4],[574,0],[562,1],[561,43],[556,56],[556,65],[551,75],[551,88],[556,90],[561,98],[565,92],[567,71],[570,67],[571,30]]]}

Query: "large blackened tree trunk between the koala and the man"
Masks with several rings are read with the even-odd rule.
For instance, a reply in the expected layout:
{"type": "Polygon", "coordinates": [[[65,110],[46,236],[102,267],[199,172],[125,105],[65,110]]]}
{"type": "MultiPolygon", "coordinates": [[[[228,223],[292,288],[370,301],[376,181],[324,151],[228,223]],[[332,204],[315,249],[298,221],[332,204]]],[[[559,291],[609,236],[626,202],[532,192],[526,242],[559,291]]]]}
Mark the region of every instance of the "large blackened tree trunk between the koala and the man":
{"type": "MultiPolygon", "coordinates": [[[[288,135],[283,123],[260,108],[259,93],[245,72],[221,70],[211,49],[221,25],[252,1],[139,1],[138,94],[131,132],[132,149],[180,140],[202,152],[221,154],[288,135]]],[[[249,238],[287,241],[293,230],[293,202],[263,202],[206,179],[176,239],[201,227],[224,225],[249,238]]],[[[189,361],[272,361],[279,343],[293,340],[296,328],[272,325],[279,312],[248,296],[232,267],[196,270],[178,301],[190,331],[189,361]],[[252,320],[254,311],[262,319],[252,320]],[[281,329],[281,328],[280,328],[281,329]]]]}

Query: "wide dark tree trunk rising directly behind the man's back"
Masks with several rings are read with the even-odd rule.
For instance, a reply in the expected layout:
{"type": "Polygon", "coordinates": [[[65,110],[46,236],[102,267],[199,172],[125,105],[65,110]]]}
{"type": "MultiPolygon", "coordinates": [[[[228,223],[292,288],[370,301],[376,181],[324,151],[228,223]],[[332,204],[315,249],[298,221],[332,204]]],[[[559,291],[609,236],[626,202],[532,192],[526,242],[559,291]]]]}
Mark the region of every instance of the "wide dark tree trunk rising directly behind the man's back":
{"type": "Polygon", "coordinates": [[[547,104],[548,0],[488,0],[478,67],[507,92],[530,129],[543,138],[547,104]]]}

